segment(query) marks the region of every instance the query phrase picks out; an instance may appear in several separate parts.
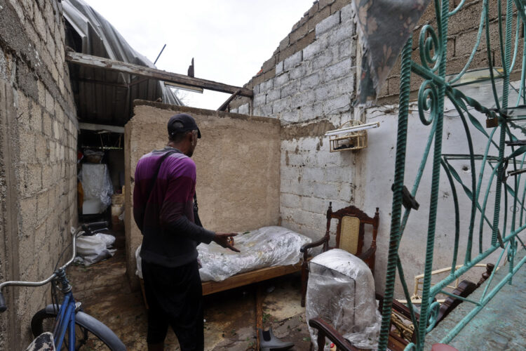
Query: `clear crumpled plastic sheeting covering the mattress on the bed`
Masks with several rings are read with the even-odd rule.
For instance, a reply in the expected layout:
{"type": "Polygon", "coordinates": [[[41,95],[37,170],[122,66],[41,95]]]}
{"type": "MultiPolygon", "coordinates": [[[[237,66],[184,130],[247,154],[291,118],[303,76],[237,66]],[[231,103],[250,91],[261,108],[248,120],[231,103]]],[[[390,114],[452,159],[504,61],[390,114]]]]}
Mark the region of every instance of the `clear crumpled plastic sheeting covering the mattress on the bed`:
{"type": "Polygon", "coordinates": [[[302,257],[299,249],[311,239],[290,229],[273,226],[238,234],[234,241],[241,253],[215,243],[197,246],[203,282],[219,282],[234,274],[263,267],[294,265],[302,257]]]}

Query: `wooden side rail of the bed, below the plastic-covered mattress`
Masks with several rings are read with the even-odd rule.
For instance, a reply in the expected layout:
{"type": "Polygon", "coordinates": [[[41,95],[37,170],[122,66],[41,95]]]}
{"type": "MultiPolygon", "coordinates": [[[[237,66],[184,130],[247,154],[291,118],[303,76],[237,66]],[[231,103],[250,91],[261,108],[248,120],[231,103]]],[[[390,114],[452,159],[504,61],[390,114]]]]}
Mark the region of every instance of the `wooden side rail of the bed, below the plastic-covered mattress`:
{"type": "Polygon", "coordinates": [[[302,270],[301,262],[296,263],[295,265],[279,265],[276,267],[265,267],[259,270],[252,270],[250,272],[233,275],[221,282],[203,282],[203,295],[262,282],[263,280],[281,277],[282,275],[299,272],[300,270],[302,270]]]}

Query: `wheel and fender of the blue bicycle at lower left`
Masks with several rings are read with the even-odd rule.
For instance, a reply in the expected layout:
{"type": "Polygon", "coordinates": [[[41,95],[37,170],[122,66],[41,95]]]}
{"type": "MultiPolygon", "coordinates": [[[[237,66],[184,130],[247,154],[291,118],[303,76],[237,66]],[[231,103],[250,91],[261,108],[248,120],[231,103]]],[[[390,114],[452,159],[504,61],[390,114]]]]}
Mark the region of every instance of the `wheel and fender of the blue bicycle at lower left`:
{"type": "MultiPolygon", "coordinates": [[[[56,317],[57,314],[53,310],[53,305],[48,305],[48,307],[36,312],[31,320],[33,336],[39,336],[45,331],[53,331],[56,317]]],[[[61,350],[68,350],[69,343],[69,333],[66,333],[61,350]]],[[[89,314],[80,311],[75,314],[74,345],[75,350],[126,350],[124,344],[111,329],[89,314]]]]}

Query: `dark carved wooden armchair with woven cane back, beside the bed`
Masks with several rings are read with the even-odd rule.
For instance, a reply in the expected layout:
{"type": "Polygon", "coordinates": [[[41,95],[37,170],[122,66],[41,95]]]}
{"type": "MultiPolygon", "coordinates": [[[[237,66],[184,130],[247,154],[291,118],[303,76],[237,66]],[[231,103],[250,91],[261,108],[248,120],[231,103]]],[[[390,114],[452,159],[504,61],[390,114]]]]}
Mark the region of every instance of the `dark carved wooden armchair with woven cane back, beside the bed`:
{"type": "Polygon", "coordinates": [[[300,251],[303,253],[302,306],[305,305],[306,286],[309,279],[309,249],[321,245],[323,245],[322,252],[328,251],[329,249],[344,249],[345,251],[352,253],[354,256],[361,258],[365,263],[367,263],[374,277],[378,224],[378,208],[376,208],[375,216],[371,218],[355,206],[349,206],[342,208],[339,211],[332,212],[332,202],[329,203],[329,208],[327,210],[327,232],[325,232],[325,236],[318,241],[302,246],[300,249],[300,251]],[[329,247],[330,223],[332,219],[338,220],[335,247],[329,247]],[[372,225],[372,241],[370,248],[367,249],[367,251],[363,251],[363,237],[365,233],[364,226],[366,224],[372,225]]]}

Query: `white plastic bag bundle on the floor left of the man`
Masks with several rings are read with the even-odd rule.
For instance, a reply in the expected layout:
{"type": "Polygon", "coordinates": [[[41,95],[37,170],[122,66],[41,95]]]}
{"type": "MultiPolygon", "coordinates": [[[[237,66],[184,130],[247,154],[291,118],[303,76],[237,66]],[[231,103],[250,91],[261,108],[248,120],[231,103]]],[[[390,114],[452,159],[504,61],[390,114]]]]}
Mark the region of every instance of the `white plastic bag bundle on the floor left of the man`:
{"type": "Polygon", "coordinates": [[[109,234],[97,233],[90,237],[81,235],[76,238],[76,262],[88,267],[112,257],[116,250],[108,249],[108,246],[112,246],[114,241],[115,237],[109,234]]]}

